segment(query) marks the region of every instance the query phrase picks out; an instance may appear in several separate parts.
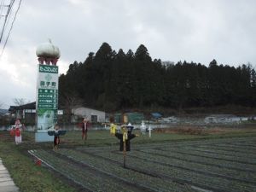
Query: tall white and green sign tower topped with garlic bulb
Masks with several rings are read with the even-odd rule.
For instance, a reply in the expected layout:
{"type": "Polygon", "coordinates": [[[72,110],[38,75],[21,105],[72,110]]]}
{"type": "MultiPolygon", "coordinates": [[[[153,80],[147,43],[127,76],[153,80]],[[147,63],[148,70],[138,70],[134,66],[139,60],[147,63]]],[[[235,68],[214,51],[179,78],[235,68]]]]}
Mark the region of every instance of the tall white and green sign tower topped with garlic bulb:
{"type": "Polygon", "coordinates": [[[37,131],[36,142],[53,141],[48,131],[54,129],[58,111],[58,83],[60,49],[49,42],[38,45],[38,83],[37,83],[37,131]]]}

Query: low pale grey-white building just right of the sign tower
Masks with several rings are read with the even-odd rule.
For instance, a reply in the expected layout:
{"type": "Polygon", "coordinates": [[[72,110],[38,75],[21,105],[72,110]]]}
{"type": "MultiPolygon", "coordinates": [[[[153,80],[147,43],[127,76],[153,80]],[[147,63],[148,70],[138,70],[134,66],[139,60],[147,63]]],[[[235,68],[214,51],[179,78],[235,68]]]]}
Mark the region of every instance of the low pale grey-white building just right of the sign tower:
{"type": "Polygon", "coordinates": [[[92,108],[73,108],[73,122],[75,122],[78,118],[86,118],[91,122],[105,122],[106,113],[103,111],[99,111],[92,108]]]}

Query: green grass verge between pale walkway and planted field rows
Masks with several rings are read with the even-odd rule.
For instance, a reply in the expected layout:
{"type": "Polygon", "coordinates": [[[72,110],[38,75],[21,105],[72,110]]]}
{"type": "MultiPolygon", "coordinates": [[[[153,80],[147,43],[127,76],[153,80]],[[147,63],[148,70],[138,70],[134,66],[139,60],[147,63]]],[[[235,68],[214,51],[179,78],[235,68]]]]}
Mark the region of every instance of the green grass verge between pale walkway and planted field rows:
{"type": "Polygon", "coordinates": [[[45,169],[44,166],[36,166],[27,151],[15,145],[14,137],[0,131],[0,157],[3,165],[9,170],[10,176],[20,191],[24,192],[69,192],[77,191],[72,186],[67,185],[45,169]]]}

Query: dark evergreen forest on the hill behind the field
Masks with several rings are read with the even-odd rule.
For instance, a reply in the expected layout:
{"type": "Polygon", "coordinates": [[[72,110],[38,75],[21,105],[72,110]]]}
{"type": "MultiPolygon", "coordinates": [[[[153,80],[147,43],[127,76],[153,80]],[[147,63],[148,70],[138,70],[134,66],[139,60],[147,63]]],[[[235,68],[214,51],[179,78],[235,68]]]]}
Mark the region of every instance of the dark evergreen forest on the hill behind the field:
{"type": "Polygon", "coordinates": [[[74,61],[60,76],[60,104],[84,104],[108,111],[125,108],[256,105],[256,74],[250,65],[230,67],[213,60],[166,63],[150,57],[142,44],[118,53],[109,44],[74,61]]]}

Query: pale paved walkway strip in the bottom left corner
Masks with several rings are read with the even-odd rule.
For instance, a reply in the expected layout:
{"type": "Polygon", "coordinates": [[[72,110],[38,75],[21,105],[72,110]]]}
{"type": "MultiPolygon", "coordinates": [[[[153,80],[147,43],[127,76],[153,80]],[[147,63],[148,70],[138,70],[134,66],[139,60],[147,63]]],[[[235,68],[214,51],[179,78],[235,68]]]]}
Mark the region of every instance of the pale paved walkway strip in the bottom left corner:
{"type": "Polygon", "coordinates": [[[8,170],[3,166],[2,159],[0,158],[0,192],[18,192],[13,179],[9,176],[8,170]]]}

